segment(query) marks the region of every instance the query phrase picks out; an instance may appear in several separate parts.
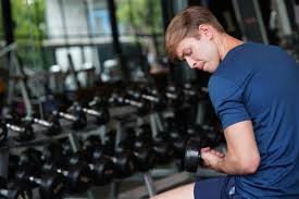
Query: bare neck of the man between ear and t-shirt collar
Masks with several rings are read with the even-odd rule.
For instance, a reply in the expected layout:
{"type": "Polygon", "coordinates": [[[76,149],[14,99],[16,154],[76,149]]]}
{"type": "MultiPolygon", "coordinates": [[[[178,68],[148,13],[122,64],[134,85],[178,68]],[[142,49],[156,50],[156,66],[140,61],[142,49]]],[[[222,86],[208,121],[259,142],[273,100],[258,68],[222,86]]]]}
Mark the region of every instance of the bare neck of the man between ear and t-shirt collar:
{"type": "Polygon", "coordinates": [[[244,43],[244,41],[236,39],[227,34],[220,34],[217,38],[219,39],[216,39],[216,43],[219,46],[221,61],[224,60],[229,50],[244,43]]]}

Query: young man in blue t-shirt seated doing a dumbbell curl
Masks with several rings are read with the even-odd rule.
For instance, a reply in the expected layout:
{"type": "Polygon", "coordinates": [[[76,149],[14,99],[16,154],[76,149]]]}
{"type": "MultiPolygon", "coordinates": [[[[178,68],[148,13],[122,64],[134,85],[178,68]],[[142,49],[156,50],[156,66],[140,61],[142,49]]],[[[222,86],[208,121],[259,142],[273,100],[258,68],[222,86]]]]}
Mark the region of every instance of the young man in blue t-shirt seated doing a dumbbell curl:
{"type": "Polygon", "coordinates": [[[171,59],[212,73],[209,94],[222,122],[227,152],[201,149],[204,164],[227,174],[166,191],[176,198],[299,198],[299,67],[278,47],[227,35],[200,7],[167,27],[171,59]]]}

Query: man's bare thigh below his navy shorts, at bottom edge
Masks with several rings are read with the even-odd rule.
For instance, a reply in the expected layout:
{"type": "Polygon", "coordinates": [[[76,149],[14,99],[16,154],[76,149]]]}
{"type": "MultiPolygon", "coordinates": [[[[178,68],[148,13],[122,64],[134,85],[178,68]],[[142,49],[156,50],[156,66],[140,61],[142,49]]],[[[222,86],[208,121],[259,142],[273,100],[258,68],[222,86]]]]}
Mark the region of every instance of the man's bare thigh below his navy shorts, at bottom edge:
{"type": "Polygon", "coordinates": [[[151,199],[194,199],[195,184],[185,185],[160,195],[152,197],[151,199]]]}

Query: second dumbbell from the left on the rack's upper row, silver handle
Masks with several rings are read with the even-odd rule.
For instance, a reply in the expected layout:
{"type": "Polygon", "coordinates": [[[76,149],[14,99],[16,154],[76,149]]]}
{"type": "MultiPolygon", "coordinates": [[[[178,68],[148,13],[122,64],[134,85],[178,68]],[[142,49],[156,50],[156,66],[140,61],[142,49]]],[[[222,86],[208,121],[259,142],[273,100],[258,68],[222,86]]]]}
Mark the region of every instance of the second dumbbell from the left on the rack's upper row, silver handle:
{"type": "Polygon", "coordinates": [[[50,121],[45,121],[37,119],[35,115],[33,115],[25,117],[23,121],[46,127],[47,135],[49,136],[59,135],[62,132],[60,122],[57,117],[50,117],[50,121]]]}

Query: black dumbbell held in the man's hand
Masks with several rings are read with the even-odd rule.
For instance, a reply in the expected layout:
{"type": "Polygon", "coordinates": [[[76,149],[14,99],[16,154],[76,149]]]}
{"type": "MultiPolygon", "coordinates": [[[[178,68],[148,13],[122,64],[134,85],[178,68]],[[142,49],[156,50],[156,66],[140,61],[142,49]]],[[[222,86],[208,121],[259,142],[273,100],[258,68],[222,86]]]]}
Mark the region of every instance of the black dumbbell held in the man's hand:
{"type": "Polygon", "coordinates": [[[191,138],[187,141],[184,158],[184,167],[186,171],[196,172],[198,166],[203,164],[203,160],[200,154],[200,150],[203,147],[207,147],[205,140],[199,137],[191,138]]]}

